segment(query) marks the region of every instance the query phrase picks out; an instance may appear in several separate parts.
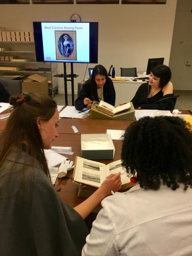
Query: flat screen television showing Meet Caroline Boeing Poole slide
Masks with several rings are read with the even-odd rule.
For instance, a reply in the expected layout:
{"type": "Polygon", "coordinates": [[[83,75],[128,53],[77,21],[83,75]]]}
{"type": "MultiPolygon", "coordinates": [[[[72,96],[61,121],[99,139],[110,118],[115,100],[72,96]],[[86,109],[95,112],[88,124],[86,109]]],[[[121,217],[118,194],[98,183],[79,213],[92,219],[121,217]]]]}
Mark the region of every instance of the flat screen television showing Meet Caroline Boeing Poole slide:
{"type": "Polygon", "coordinates": [[[33,22],[37,61],[98,63],[98,22],[33,22]]]}

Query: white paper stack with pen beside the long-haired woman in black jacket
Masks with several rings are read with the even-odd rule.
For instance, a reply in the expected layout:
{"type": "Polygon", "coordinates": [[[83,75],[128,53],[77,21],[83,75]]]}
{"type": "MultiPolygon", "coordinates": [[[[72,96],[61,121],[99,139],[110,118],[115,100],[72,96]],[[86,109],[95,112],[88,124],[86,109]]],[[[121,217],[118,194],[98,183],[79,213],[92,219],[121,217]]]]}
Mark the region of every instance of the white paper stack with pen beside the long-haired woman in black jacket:
{"type": "Polygon", "coordinates": [[[90,109],[83,108],[82,113],[79,113],[80,111],[77,110],[74,106],[66,106],[60,113],[59,117],[71,117],[71,118],[83,118],[87,117],[90,109]],[[85,110],[85,111],[83,111],[85,110]]]}

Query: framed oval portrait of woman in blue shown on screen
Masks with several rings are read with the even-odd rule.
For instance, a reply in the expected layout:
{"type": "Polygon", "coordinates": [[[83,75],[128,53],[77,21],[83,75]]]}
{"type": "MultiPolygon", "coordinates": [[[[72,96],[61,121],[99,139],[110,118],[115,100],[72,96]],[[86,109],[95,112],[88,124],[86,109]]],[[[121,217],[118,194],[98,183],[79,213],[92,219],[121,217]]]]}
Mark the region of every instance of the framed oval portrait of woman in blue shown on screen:
{"type": "Polygon", "coordinates": [[[55,30],[56,59],[77,60],[76,31],[55,30]]]}

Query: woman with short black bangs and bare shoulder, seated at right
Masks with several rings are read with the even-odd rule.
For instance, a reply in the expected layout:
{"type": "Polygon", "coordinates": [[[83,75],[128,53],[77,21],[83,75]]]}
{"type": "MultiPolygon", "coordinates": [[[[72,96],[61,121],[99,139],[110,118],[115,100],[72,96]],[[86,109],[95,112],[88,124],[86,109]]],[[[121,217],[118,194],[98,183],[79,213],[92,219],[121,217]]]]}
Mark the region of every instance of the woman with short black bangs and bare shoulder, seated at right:
{"type": "MultiPolygon", "coordinates": [[[[173,84],[170,82],[171,70],[159,64],[151,70],[149,82],[142,83],[131,100],[134,108],[171,110],[174,109],[173,84]]],[[[127,102],[121,102],[123,105],[127,102]]]]}

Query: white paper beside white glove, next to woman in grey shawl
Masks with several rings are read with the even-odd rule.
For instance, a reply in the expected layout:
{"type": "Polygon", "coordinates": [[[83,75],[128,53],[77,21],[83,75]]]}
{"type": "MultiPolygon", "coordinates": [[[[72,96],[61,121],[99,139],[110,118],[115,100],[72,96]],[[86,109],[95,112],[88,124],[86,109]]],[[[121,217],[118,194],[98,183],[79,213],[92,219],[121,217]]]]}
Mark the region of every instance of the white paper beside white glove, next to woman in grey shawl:
{"type": "Polygon", "coordinates": [[[65,156],[61,156],[60,154],[50,149],[44,149],[44,153],[49,168],[57,166],[67,159],[65,156]]]}

